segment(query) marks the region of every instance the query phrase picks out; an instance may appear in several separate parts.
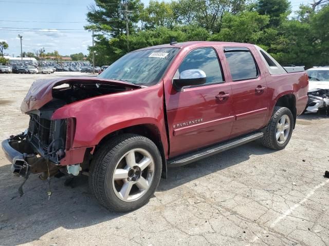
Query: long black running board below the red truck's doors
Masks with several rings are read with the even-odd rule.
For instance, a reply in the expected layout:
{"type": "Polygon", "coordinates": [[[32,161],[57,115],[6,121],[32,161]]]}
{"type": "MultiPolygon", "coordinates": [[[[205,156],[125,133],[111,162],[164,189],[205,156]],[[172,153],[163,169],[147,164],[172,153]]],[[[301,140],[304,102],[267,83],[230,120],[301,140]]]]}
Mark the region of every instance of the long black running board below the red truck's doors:
{"type": "Polygon", "coordinates": [[[173,159],[168,160],[168,167],[180,167],[184,166],[188,163],[191,163],[196,160],[200,160],[206,158],[208,156],[221,153],[225,150],[232,149],[234,147],[244,145],[247,142],[251,142],[258,138],[261,138],[264,135],[263,132],[255,132],[252,134],[245,135],[243,137],[234,138],[232,140],[228,140],[222,142],[221,144],[217,144],[215,146],[211,146],[205,149],[197,150],[191,154],[175,157],[173,159]]]}

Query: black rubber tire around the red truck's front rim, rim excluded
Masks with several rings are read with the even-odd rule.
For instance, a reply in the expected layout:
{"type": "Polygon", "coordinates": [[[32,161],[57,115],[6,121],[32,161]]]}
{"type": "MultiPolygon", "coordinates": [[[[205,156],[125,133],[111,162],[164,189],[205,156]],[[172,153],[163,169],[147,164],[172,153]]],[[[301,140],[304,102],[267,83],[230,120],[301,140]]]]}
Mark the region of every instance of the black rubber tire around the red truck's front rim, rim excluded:
{"type": "Polygon", "coordinates": [[[89,187],[97,200],[110,211],[128,212],[142,207],[158,187],[162,170],[161,155],[149,138],[136,134],[122,134],[103,144],[96,152],[89,171],[89,187]],[[113,174],[120,158],[132,149],[147,150],[154,160],[154,176],[149,189],[139,199],[123,201],[116,195],[113,174]]]}

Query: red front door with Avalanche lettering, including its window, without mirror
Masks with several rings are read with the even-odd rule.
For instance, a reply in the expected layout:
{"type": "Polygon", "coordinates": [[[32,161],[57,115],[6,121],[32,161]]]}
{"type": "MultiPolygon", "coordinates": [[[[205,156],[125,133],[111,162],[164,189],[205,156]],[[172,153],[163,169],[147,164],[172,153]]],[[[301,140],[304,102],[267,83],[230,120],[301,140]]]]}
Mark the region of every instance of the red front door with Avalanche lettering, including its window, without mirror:
{"type": "Polygon", "coordinates": [[[175,75],[166,79],[165,84],[170,85],[165,88],[170,157],[229,138],[234,120],[232,90],[223,79],[212,47],[190,51],[182,58],[175,75]],[[206,84],[175,90],[172,79],[188,69],[203,70],[206,84]]]}

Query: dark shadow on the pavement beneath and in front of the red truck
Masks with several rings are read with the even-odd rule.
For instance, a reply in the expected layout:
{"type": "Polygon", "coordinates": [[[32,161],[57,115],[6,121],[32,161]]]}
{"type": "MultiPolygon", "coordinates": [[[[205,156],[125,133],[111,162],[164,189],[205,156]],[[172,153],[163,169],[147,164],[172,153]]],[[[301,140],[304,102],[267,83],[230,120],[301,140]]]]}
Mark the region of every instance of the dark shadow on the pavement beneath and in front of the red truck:
{"type": "MultiPolygon", "coordinates": [[[[157,192],[165,192],[213,172],[238,165],[250,155],[272,153],[255,142],[221,154],[170,168],[168,179],[162,179],[157,192]]],[[[52,178],[49,184],[30,175],[20,197],[17,189],[22,177],[13,177],[10,165],[0,167],[0,245],[16,245],[38,240],[48,232],[63,227],[77,229],[109,221],[127,213],[109,212],[97,202],[88,188],[88,177],[79,176],[73,186],[65,187],[65,178],[52,178]]],[[[156,194],[155,194],[156,196],[156,194]]]]}

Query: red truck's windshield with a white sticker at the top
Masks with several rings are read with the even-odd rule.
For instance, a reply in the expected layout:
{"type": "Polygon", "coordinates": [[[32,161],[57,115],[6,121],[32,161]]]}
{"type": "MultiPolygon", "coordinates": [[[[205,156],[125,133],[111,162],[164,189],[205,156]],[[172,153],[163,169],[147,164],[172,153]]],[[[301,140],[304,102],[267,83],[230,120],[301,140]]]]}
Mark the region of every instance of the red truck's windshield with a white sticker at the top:
{"type": "Polygon", "coordinates": [[[115,61],[98,77],[152,86],[159,82],[178,51],[178,48],[135,51],[115,61]]]}

